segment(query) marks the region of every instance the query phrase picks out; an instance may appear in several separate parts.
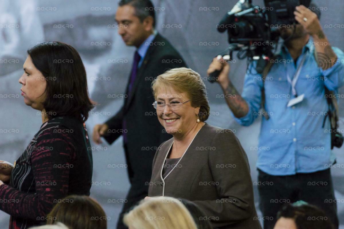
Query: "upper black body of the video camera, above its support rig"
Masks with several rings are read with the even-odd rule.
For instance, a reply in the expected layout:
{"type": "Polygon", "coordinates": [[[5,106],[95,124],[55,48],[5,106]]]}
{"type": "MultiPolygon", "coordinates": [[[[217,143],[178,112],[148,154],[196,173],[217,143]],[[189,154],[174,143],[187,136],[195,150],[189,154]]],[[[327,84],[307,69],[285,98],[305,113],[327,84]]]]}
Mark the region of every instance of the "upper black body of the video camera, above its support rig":
{"type": "MultiPolygon", "coordinates": [[[[239,0],[217,25],[219,32],[228,32],[228,43],[244,45],[275,41],[278,28],[297,23],[295,7],[309,7],[311,0],[264,0],[265,7],[253,5],[252,0],[239,0]]],[[[259,46],[259,45],[255,45],[259,46]]]]}

